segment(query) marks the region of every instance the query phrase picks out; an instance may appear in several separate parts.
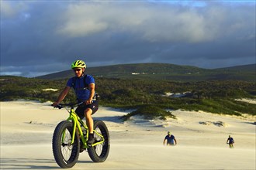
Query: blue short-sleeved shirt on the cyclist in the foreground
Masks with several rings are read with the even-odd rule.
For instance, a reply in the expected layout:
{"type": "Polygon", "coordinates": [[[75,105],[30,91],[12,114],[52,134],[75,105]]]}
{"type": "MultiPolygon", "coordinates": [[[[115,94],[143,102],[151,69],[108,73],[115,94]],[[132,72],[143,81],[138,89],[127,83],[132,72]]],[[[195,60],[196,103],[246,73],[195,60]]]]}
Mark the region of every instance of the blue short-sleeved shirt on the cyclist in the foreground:
{"type": "Polygon", "coordinates": [[[67,87],[73,87],[73,84],[74,84],[75,86],[74,92],[78,97],[78,100],[80,101],[88,100],[88,98],[90,97],[90,90],[86,88],[86,84],[89,85],[90,83],[95,83],[93,76],[91,75],[85,75],[85,76],[81,76],[81,77],[74,76],[74,77],[71,77],[69,80],[67,80],[67,87]],[[85,77],[85,80],[84,80],[84,77],[85,77]]]}

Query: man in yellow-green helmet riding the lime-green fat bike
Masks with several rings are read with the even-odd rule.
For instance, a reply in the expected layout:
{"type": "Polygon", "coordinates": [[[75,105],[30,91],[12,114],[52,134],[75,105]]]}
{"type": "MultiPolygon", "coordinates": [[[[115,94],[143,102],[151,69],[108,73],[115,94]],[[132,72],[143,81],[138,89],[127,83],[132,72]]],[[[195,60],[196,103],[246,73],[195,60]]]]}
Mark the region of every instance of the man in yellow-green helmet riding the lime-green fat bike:
{"type": "Polygon", "coordinates": [[[61,101],[64,100],[71,87],[73,87],[78,98],[78,103],[84,103],[78,106],[75,113],[77,113],[81,119],[85,117],[89,130],[87,144],[92,145],[95,142],[92,114],[95,114],[99,108],[98,101],[95,100],[95,80],[93,76],[85,74],[86,64],[82,60],[74,61],[74,63],[71,64],[71,69],[74,71],[75,76],[67,80],[66,87],[62,90],[53,106],[57,107],[57,104],[60,104],[61,101]]]}

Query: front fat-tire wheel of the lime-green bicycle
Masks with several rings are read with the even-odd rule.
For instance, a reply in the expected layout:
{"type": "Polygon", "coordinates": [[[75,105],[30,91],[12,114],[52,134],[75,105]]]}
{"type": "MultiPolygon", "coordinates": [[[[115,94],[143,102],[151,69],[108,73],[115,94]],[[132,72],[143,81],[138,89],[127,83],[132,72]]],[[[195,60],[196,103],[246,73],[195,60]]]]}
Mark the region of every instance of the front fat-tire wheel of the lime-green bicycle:
{"type": "Polygon", "coordinates": [[[61,168],[71,168],[78,162],[79,136],[75,133],[74,144],[71,145],[72,131],[73,124],[70,121],[61,121],[54,131],[52,141],[54,158],[61,168]],[[64,140],[62,139],[63,133],[65,133],[64,140]]]}

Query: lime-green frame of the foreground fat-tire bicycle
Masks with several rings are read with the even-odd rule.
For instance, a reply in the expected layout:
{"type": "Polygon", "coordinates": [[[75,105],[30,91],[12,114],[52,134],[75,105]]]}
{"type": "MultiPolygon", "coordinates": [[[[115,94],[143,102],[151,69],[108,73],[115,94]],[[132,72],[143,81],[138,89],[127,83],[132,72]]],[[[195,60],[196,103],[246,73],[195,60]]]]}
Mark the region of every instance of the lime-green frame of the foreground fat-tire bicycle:
{"type": "MultiPolygon", "coordinates": [[[[83,123],[83,121],[81,121],[81,118],[78,117],[78,114],[76,114],[74,112],[74,108],[71,107],[71,110],[69,111],[70,115],[69,117],[67,118],[67,121],[72,121],[73,124],[74,124],[74,128],[73,128],[73,133],[72,133],[72,140],[71,140],[71,145],[74,144],[74,136],[75,136],[75,132],[78,131],[78,133],[80,134],[80,137],[81,137],[81,141],[83,142],[84,144],[84,148],[89,148],[90,146],[87,145],[86,141],[88,140],[88,127],[83,123]],[[87,131],[86,133],[86,137],[84,136],[83,134],[83,131],[81,130],[81,126],[83,126],[85,128],[85,130],[87,131]]],[[[93,130],[95,134],[97,134],[101,140],[100,141],[97,141],[96,143],[92,144],[92,146],[95,146],[95,145],[99,145],[99,144],[102,144],[105,139],[104,137],[102,136],[102,134],[99,134],[97,131],[93,130]]],[[[62,134],[62,140],[64,140],[64,137],[65,137],[65,133],[62,134]]]]}

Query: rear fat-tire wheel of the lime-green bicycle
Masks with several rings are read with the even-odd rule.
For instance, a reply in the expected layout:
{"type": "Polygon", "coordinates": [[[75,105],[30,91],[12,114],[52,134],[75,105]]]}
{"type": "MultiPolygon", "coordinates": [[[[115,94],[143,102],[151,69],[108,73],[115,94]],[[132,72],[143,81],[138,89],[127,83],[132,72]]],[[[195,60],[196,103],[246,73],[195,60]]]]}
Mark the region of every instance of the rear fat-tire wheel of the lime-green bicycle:
{"type": "MultiPolygon", "coordinates": [[[[88,155],[93,162],[105,162],[110,148],[109,130],[103,121],[94,121],[94,129],[99,134],[102,134],[105,141],[102,144],[88,148],[88,155]]],[[[102,140],[97,134],[95,134],[95,138],[96,141],[102,140]]]]}

